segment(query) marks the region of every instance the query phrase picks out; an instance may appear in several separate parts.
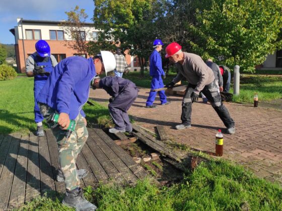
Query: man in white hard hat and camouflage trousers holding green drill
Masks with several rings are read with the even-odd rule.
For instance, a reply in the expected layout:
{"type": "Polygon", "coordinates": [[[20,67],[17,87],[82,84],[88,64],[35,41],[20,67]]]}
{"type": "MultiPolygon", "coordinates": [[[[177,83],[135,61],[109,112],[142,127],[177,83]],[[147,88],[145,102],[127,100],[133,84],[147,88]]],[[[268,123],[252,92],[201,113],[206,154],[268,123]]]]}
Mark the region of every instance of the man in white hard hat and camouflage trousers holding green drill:
{"type": "Polygon", "coordinates": [[[80,178],[87,175],[85,169],[76,169],[76,159],[87,138],[87,121],[82,110],[89,96],[90,82],[96,74],[112,71],[115,68],[114,55],[101,51],[94,58],[72,56],[59,62],[45,85],[37,101],[40,112],[55,136],[59,151],[57,181],[64,181],[66,194],[63,204],[76,210],[95,210],[97,207],[83,197],[80,178]],[[58,114],[57,123],[52,121],[58,114]],[[66,137],[70,120],[76,123],[75,131],[66,137]]]}

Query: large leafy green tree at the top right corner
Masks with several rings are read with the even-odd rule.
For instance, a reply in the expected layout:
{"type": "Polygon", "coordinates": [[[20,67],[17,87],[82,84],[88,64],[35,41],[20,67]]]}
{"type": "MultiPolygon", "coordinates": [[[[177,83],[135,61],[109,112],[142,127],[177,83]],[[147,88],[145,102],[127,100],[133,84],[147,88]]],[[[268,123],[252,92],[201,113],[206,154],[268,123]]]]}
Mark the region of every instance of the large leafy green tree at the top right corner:
{"type": "MultiPolygon", "coordinates": [[[[195,1],[198,2],[198,1],[195,1]]],[[[195,22],[183,23],[191,36],[187,45],[206,59],[214,58],[243,71],[253,71],[269,53],[282,49],[280,0],[209,0],[196,9],[195,22]]]]}

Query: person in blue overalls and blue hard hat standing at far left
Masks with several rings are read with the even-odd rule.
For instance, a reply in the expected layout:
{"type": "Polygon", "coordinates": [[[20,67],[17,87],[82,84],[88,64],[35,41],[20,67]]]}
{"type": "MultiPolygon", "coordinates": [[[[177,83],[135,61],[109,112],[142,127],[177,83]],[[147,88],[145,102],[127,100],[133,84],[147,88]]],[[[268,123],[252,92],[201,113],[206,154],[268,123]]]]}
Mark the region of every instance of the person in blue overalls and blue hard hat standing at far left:
{"type": "Polygon", "coordinates": [[[34,76],[34,121],[37,125],[36,136],[44,136],[42,121],[43,116],[40,114],[36,98],[46,83],[46,80],[57,65],[57,60],[50,54],[50,46],[45,40],[38,40],[35,43],[36,52],[31,54],[26,61],[26,75],[34,76]]]}

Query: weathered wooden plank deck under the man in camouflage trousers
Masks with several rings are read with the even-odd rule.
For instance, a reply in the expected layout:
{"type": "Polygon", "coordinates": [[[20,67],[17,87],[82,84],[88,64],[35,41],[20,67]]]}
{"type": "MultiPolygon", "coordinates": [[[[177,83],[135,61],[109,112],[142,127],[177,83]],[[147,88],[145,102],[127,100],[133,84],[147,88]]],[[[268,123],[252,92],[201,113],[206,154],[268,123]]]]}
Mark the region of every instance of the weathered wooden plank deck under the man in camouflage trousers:
{"type": "MultiPolygon", "coordinates": [[[[136,164],[101,129],[88,129],[89,138],[79,154],[77,167],[88,175],[82,186],[97,186],[109,178],[134,183],[147,172],[136,164]]],[[[54,180],[58,150],[51,130],[46,136],[0,135],[0,210],[21,206],[45,192],[65,191],[64,182],[54,180]]]]}

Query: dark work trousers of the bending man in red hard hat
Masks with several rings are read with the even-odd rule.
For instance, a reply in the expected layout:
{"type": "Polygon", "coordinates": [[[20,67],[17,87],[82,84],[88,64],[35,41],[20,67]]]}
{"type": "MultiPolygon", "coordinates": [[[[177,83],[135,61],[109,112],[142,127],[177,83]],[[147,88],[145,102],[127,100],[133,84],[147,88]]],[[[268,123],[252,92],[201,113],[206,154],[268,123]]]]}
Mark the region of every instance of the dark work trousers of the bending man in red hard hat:
{"type": "MultiPolygon", "coordinates": [[[[191,94],[194,91],[196,85],[188,84],[183,100],[182,100],[182,114],[181,114],[181,121],[183,125],[190,125],[191,124],[191,112],[192,112],[192,100],[191,94]]],[[[218,87],[216,82],[213,81],[210,84],[204,86],[203,90],[201,91],[206,98],[212,104],[214,110],[218,113],[220,119],[223,121],[224,125],[227,128],[232,128],[235,126],[235,122],[230,117],[230,114],[227,108],[222,104],[221,95],[218,91],[218,87]]]]}

